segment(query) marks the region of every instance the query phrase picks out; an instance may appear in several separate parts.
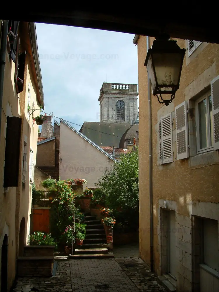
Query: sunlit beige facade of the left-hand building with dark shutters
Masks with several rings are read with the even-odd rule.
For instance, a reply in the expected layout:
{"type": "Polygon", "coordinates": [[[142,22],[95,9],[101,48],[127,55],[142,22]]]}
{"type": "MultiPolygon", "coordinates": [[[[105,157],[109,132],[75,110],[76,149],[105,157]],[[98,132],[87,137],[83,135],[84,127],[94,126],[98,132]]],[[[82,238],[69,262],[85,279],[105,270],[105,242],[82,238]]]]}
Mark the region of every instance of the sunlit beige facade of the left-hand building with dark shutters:
{"type": "MultiPolygon", "coordinates": [[[[9,56],[10,45],[7,42],[0,137],[0,255],[2,254],[3,241],[6,238],[7,248],[4,251],[7,250],[8,254],[6,266],[4,265],[7,270],[7,277],[1,285],[6,285],[8,290],[15,279],[18,254],[22,253],[22,247],[28,240],[32,202],[31,183],[36,161],[38,136],[38,126],[34,123],[33,117],[39,115],[40,106],[44,106],[42,86],[41,83],[39,84],[41,76],[37,74],[35,67],[38,56],[35,24],[20,22],[18,36],[20,50],[17,51],[15,63],[9,56]],[[33,53],[33,44],[36,46],[35,53],[33,53]],[[24,86],[23,91],[17,93],[15,88],[15,64],[19,54],[25,51],[24,86]],[[29,112],[27,110],[28,105],[30,106],[29,112]],[[36,111],[31,114],[33,108],[36,111]],[[21,118],[20,147],[14,149],[15,152],[18,151],[19,157],[18,185],[13,187],[3,187],[8,116],[21,118]]],[[[0,261],[2,261],[1,257],[0,261]]],[[[0,274],[3,272],[1,266],[2,262],[0,263],[0,274]]]]}

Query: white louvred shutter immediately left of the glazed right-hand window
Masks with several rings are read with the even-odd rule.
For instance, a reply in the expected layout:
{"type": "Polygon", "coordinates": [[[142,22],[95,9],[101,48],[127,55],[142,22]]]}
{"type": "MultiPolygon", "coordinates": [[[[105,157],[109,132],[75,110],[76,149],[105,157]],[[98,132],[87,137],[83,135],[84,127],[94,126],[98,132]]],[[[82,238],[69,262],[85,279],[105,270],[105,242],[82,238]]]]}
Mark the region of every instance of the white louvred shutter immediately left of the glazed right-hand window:
{"type": "Polygon", "coordinates": [[[189,157],[186,101],[175,107],[177,160],[189,157]]]}

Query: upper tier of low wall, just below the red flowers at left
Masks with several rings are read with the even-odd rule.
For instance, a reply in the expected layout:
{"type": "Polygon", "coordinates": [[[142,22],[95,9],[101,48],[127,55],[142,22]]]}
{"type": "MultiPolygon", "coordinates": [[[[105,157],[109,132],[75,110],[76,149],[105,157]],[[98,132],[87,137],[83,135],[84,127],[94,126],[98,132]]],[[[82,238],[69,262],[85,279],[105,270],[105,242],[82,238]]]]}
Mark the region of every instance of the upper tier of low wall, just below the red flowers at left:
{"type": "Polygon", "coordinates": [[[24,247],[24,256],[30,257],[30,256],[36,256],[36,257],[54,257],[54,245],[26,245],[24,247]]]}

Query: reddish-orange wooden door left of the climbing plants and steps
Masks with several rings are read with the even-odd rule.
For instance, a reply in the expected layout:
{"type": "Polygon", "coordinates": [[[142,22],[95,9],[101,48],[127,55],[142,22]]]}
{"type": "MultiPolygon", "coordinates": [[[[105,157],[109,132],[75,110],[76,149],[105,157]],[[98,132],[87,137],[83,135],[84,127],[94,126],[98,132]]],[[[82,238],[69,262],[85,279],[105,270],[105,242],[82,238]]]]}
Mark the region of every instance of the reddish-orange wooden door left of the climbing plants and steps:
{"type": "Polygon", "coordinates": [[[49,232],[49,209],[33,209],[33,232],[49,232]]]}

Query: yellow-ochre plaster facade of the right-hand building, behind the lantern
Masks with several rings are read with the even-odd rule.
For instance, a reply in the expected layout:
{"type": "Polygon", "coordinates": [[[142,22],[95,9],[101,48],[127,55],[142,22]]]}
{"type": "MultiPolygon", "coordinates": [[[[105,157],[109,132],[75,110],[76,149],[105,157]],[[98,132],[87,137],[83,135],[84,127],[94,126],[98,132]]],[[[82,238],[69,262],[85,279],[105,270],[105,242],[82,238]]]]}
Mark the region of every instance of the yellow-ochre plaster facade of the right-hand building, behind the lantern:
{"type": "MultiPolygon", "coordinates": [[[[150,47],[154,41],[149,38],[150,47]]],[[[187,40],[178,39],[181,48],[187,48],[187,40]]],[[[148,130],[148,84],[147,69],[144,66],[147,55],[147,38],[138,38],[138,79],[139,79],[139,237],[140,255],[150,263],[150,203],[149,203],[149,130],[148,130]]],[[[196,153],[196,133],[189,129],[190,156],[176,159],[175,107],[188,101],[187,108],[193,108],[195,100],[205,92],[211,92],[210,82],[219,75],[219,45],[201,43],[188,57],[184,57],[180,88],[175,99],[168,105],[161,105],[157,97],[152,100],[152,148],[153,148],[153,255],[154,270],[164,274],[165,255],[162,254],[162,212],[164,201],[166,209],[175,211],[176,246],[176,287],[178,291],[192,291],[195,279],[192,272],[192,216],[218,220],[219,223],[219,155],[218,151],[204,154],[196,153]],[[173,117],[173,162],[158,163],[159,120],[167,114],[173,117]],[[195,150],[194,150],[195,149],[195,150]],[[192,152],[193,151],[193,152],[192,152]],[[195,152],[195,153],[194,153],[195,152]],[[204,208],[199,208],[203,202],[204,208]],[[217,206],[217,207],[214,207],[217,206]],[[202,211],[200,211],[202,210],[202,211]],[[206,213],[204,210],[208,210],[206,213]],[[181,230],[188,228],[183,234],[181,230]],[[183,236],[184,235],[184,236],[183,236]],[[187,237],[187,239],[185,239],[187,237]],[[182,247],[185,244],[185,248],[182,247]],[[182,259],[180,254],[182,253],[182,259]],[[185,260],[187,257],[187,263],[185,260]],[[184,259],[184,260],[183,260],[184,259]],[[187,274],[186,272],[187,271],[187,274]]],[[[195,123],[188,114],[188,123],[195,123]]],[[[196,125],[197,127],[197,125],[196,125]]],[[[175,253],[175,250],[173,251],[175,253]]],[[[163,251],[164,253],[164,251],[163,251]]],[[[218,253],[218,250],[216,251],[218,253]]],[[[199,283],[200,284],[200,283],[199,283]]],[[[197,290],[198,291],[198,290],[197,290]]],[[[209,290],[210,291],[210,290],[209,290]]]]}

